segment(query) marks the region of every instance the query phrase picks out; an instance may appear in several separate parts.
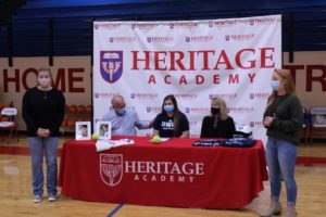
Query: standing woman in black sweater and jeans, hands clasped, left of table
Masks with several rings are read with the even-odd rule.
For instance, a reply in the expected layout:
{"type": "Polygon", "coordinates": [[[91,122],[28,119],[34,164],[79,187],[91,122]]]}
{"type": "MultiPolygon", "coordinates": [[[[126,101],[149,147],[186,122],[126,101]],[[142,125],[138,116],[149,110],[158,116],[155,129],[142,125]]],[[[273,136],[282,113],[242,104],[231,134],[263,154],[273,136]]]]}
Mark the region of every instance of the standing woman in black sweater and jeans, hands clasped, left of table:
{"type": "Polygon", "coordinates": [[[43,155],[47,163],[48,201],[57,200],[57,153],[60,126],[64,117],[65,99],[52,87],[50,68],[37,73],[37,86],[23,97],[23,118],[27,126],[27,142],[32,155],[34,203],[43,194],[43,155]]]}

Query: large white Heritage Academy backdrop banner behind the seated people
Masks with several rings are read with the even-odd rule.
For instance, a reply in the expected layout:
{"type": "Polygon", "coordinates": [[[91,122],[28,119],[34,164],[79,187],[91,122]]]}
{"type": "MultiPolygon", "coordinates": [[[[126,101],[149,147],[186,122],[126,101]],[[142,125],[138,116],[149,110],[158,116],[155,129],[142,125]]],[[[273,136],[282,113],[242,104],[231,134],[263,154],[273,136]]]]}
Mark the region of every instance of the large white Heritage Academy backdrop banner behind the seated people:
{"type": "MultiPolygon", "coordinates": [[[[200,135],[214,97],[226,101],[236,125],[265,140],[262,116],[274,68],[281,67],[281,16],[186,22],[95,22],[95,123],[122,94],[141,120],[174,94],[200,135]]],[[[151,136],[152,130],[139,130],[151,136]]]]}

